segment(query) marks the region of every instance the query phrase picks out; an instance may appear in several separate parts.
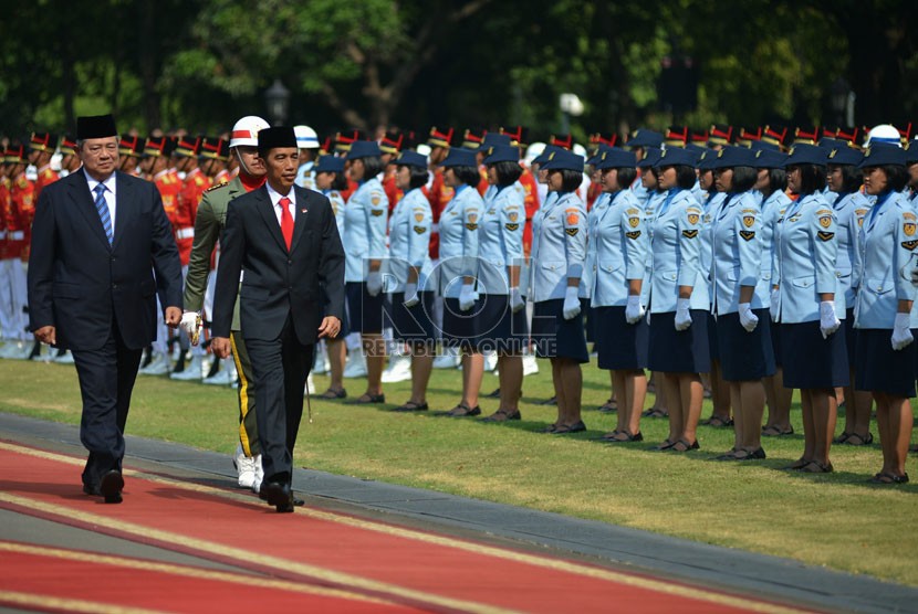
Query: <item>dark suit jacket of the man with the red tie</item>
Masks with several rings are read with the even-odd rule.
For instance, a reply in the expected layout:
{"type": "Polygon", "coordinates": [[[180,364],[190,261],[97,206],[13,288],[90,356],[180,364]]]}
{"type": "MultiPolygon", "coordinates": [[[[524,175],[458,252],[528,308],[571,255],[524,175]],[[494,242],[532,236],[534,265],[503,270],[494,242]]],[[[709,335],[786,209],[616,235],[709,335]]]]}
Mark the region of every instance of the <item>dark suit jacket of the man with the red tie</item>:
{"type": "Polygon", "coordinates": [[[289,252],[265,187],[229,203],[213,298],[215,337],[229,337],[237,293],[246,339],[278,339],[292,313],[296,338],[314,343],[323,315],[342,319],[344,250],[332,205],[319,192],[293,189],[296,216],[289,252]]]}

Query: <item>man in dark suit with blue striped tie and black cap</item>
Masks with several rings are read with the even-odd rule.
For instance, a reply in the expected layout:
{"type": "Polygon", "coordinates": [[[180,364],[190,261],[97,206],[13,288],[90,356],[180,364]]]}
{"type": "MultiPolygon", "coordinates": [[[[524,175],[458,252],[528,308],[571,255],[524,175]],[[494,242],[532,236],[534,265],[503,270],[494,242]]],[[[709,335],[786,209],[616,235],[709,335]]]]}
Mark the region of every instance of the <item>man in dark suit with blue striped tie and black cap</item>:
{"type": "Polygon", "coordinates": [[[121,502],[124,427],[143,348],[181,319],[181,265],[153,183],[116,171],[111,115],[80,117],[83,162],[48,186],[35,207],[29,258],[29,319],[35,337],[70,349],[80,378],[80,440],[90,457],[83,490],[121,502]]]}

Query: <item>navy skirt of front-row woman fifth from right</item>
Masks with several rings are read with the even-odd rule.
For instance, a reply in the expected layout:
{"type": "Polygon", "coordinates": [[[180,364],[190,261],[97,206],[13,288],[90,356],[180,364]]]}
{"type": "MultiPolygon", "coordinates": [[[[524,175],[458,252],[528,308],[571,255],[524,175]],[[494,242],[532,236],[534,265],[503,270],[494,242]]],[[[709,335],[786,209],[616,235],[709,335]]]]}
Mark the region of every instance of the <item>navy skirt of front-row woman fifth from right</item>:
{"type": "Polygon", "coordinates": [[[630,370],[647,367],[647,347],[650,327],[643,317],[637,324],[625,319],[625,307],[594,307],[591,321],[602,322],[596,327],[596,348],[599,369],[630,370]]]}

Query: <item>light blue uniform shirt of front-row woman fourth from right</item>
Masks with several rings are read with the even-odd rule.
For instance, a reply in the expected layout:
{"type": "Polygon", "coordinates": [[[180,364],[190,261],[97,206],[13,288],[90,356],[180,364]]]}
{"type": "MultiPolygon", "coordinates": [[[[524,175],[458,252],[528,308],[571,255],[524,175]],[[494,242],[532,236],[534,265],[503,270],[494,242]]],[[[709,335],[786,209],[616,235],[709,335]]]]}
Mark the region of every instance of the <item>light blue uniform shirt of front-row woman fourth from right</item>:
{"type": "Polygon", "coordinates": [[[654,256],[650,313],[675,311],[679,286],[692,288],[691,309],[707,309],[708,287],[701,271],[698,240],[701,232],[701,205],[689,190],[672,189],[663,194],[650,237],[654,256]]]}

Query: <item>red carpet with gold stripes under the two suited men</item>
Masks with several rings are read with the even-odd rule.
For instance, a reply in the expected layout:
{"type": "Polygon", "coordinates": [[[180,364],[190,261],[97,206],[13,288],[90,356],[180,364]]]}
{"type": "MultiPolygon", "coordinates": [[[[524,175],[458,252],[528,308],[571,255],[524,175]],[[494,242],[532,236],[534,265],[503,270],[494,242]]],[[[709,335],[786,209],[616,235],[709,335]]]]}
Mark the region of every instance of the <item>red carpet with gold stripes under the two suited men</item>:
{"type": "MultiPolygon", "coordinates": [[[[234,491],[175,483],[148,474],[133,476],[129,470],[125,475],[125,502],[104,505],[80,490],[82,459],[3,444],[0,445],[0,463],[14,467],[7,475],[15,476],[14,480],[0,480],[0,507],[228,562],[293,584],[338,589],[380,599],[388,604],[428,611],[512,610],[578,614],[611,611],[790,612],[773,603],[322,510],[298,509],[292,515],[280,515],[254,496],[240,498],[234,491]]],[[[344,596],[280,589],[261,591],[258,586],[236,585],[228,580],[182,578],[161,572],[140,574],[135,569],[118,569],[116,562],[105,562],[105,573],[122,573],[125,581],[113,583],[116,590],[105,592],[101,589],[100,595],[86,589],[92,587],[91,579],[98,576],[98,570],[83,574],[76,569],[80,565],[55,560],[53,564],[64,569],[58,575],[48,576],[55,578],[53,583],[46,578],[28,581],[39,573],[39,569],[45,569],[45,563],[36,561],[49,557],[14,555],[24,562],[22,569],[17,569],[15,580],[0,574],[0,586],[4,591],[30,592],[24,586],[31,586],[39,592],[48,591],[49,595],[152,608],[173,608],[174,601],[177,603],[179,597],[188,607],[195,607],[196,602],[208,603],[212,611],[225,610],[215,606],[219,600],[225,600],[230,610],[241,610],[243,603],[264,603],[264,599],[275,599],[279,603],[296,600],[300,607],[309,603],[310,608],[316,600],[314,607],[320,608],[317,611],[357,612],[386,607],[344,596]],[[32,563],[27,564],[28,561],[32,563]],[[157,591],[157,585],[169,589],[157,591]],[[263,599],[253,596],[265,592],[268,596],[263,599]],[[199,602],[202,594],[210,596],[199,602]]],[[[103,563],[86,567],[100,564],[103,563]]],[[[95,590],[100,589],[96,586],[95,590]]]]}

